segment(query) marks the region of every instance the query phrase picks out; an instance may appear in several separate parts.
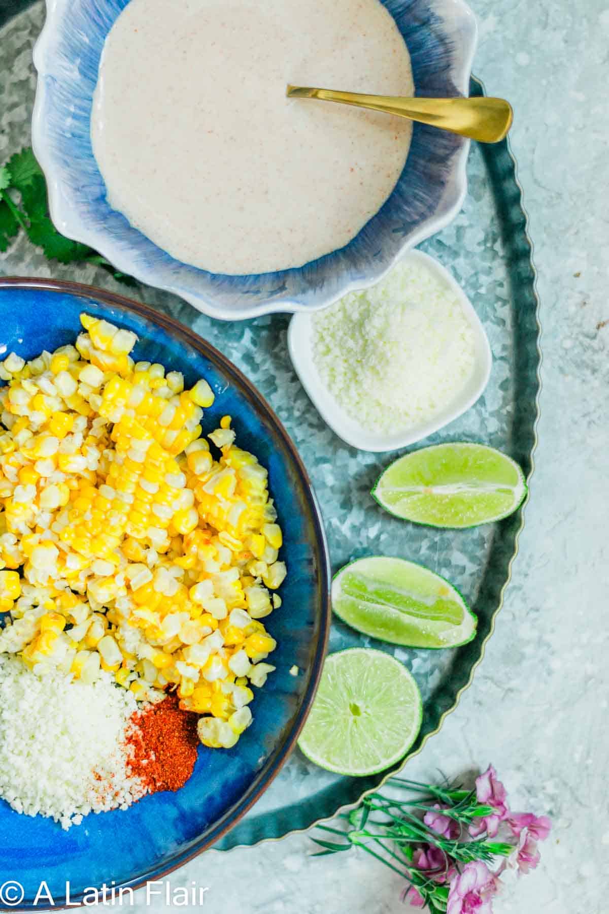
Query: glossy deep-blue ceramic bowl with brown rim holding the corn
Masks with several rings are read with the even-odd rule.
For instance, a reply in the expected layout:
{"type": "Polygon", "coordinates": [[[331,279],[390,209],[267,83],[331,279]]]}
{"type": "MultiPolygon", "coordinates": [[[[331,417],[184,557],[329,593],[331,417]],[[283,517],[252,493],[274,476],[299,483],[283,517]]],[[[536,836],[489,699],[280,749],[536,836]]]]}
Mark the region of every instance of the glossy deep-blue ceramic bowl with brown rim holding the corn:
{"type": "Polygon", "coordinates": [[[214,406],[205,411],[210,428],[231,415],[239,444],[268,468],[289,573],[279,591],[283,605],[268,619],[278,642],[272,658],[277,671],[257,691],[254,722],[235,749],[201,746],[194,774],[182,790],[144,797],[124,812],[91,814],[68,832],[49,819],[19,815],[0,800],[0,884],[5,877],[23,885],[22,909],[32,907],[43,879],[56,904],[62,904],[66,880],[71,899],[78,900],[85,887],[104,881],[137,886],[160,878],[235,824],[296,743],[330,627],[328,552],[307,473],[277,417],[225,356],[145,305],[89,286],[20,279],[0,279],[0,351],[32,358],[42,349],[72,342],[82,311],[135,331],[138,359],[184,372],[187,384],[198,377],[209,381],[216,394],[214,406]],[[298,676],[289,675],[293,664],[298,676]]]}

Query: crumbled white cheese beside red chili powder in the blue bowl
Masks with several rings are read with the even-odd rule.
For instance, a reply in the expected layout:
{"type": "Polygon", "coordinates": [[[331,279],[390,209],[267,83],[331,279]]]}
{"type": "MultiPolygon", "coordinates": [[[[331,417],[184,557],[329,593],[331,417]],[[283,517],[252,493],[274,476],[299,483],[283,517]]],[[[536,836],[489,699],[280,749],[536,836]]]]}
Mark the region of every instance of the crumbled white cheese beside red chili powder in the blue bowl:
{"type": "Polygon", "coordinates": [[[40,678],[18,657],[0,655],[0,795],[18,813],[65,829],[87,813],[140,799],[125,736],[137,702],[110,674],[86,685],[61,674],[40,678]]]}

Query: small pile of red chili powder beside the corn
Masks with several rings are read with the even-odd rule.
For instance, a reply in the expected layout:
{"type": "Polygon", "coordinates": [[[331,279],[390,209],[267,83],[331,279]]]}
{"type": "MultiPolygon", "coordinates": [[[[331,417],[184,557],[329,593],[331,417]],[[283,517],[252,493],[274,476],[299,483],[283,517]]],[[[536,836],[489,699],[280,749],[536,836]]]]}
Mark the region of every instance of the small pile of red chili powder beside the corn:
{"type": "Polygon", "coordinates": [[[127,737],[131,774],[141,778],[149,793],[177,791],[190,778],[199,740],[197,715],[182,711],[179,698],[168,695],[131,717],[127,737]]]}

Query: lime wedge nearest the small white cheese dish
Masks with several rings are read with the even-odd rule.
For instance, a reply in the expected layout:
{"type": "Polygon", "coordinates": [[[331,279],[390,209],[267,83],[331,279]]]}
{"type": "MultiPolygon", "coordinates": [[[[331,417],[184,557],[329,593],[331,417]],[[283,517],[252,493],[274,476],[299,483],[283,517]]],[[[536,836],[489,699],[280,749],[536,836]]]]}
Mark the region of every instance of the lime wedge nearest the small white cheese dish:
{"type": "Polygon", "coordinates": [[[464,527],[512,514],[527,494],[524,473],[484,444],[436,444],[400,457],[373,488],[385,510],[415,524],[464,527]]]}

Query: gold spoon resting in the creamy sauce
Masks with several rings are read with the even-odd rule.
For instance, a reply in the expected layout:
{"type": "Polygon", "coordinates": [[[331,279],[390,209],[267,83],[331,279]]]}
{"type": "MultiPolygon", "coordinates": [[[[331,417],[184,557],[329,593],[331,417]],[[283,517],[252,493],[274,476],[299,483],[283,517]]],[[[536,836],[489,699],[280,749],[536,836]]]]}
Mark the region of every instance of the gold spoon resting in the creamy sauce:
{"type": "Polygon", "coordinates": [[[332,89],[312,89],[288,86],[290,99],[320,99],[340,101],[357,108],[397,114],[411,121],[428,123],[450,133],[468,136],[480,143],[499,143],[511,127],[513,112],[509,101],[480,96],[471,99],[404,99],[397,95],[362,95],[360,92],[339,92],[332,89]]]}

